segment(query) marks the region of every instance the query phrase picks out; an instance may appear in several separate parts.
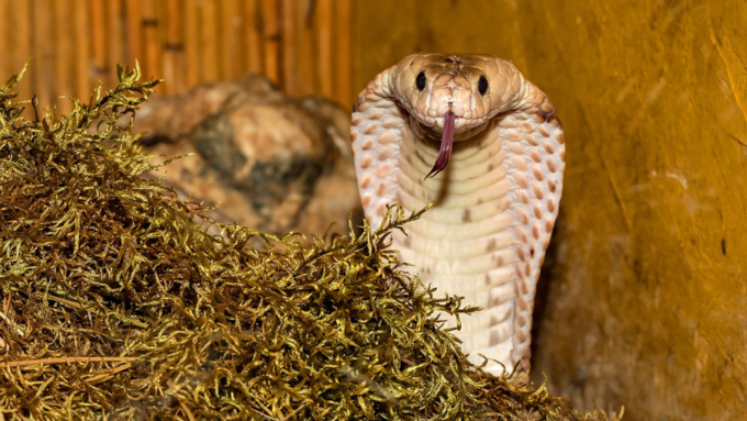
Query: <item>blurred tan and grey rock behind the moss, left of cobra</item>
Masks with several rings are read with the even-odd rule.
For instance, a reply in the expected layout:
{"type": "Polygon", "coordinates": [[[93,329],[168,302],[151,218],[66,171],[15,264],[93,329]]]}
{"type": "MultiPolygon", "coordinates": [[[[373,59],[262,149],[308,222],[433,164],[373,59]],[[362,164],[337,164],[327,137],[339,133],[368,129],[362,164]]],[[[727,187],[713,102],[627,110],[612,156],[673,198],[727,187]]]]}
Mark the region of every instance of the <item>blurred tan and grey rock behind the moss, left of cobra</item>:
{"type": "Polygon", "coordinates": [[[220,203],[210,211],[218,221],[322,235],[331,223],[347,233],[350,212],[361,221],[348,128],[334,102],[291,99],[247,75],[153,98],[134,132],[147,132],[147,153],[197,154],[165,166],[165,181],[182,198],[220,203]]]}

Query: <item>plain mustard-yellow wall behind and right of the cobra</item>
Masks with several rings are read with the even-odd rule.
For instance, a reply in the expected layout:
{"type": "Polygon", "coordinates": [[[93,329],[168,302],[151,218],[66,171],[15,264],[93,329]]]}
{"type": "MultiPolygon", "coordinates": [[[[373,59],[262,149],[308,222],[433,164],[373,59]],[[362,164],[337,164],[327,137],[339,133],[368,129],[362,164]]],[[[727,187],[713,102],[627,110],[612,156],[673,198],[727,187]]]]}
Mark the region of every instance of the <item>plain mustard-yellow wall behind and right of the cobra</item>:
{"type": "Polygon", "coordinates": [[[535,375],[629,420],[747,419],[747,3],[356,2],[354,90],[416,51],[511,58],[566,189],[535,375]]]}

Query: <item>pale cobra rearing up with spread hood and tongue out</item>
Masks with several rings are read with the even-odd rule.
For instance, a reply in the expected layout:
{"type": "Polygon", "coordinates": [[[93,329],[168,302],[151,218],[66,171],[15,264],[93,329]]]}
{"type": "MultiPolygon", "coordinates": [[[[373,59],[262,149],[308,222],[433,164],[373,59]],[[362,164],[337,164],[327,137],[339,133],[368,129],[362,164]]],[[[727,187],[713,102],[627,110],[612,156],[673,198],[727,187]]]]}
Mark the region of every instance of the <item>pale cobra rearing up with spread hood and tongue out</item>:
{"type": "Polygon", "coordinates": [[[520,362],[527,370],[565,169],[547,96],[494,56],[414,54],[360,92],[350,135],[372,230],[387,204],[414,211],[434,202],[409,236],[394,234],[392,248],[437,293],[482,308],[455,331],[469,361],[494,359],[484,369],[495,375],[520,362]]]}

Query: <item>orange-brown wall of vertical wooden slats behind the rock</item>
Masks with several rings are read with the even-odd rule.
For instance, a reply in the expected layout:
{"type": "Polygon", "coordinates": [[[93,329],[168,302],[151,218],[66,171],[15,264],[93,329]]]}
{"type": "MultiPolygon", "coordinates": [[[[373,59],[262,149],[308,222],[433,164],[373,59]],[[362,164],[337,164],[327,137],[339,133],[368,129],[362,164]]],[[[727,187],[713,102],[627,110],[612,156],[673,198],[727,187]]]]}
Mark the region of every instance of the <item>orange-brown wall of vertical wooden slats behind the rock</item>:
{"type": "Polygon", "coordinates": [[[0,79],[33,57],[20,98],[69,112],[116,64],[177,93],[260,73],[291,96],[352,106],[353,0],[0,0],[0,79]]]}

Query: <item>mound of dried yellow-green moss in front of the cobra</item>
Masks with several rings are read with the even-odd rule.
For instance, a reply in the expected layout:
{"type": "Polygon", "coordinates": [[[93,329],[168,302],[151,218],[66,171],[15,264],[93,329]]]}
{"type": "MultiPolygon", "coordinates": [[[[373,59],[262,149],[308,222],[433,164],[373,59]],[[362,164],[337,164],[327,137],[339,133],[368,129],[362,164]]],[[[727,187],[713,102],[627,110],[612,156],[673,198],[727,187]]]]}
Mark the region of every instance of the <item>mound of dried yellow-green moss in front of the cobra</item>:
{"type": "Polygon", "coordinates": [[[584,419],[470,366],[434,312],[475,309],[434,298],[387,248],[419,214],[311,243],[208,234],[204,208],[143,177],[138,136],[116,125],[158,81],[119,76],[33,121],[18,77],[0,89],[5,420],[584,419]]]}

